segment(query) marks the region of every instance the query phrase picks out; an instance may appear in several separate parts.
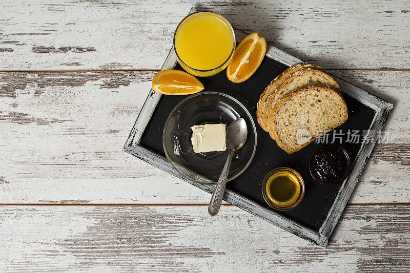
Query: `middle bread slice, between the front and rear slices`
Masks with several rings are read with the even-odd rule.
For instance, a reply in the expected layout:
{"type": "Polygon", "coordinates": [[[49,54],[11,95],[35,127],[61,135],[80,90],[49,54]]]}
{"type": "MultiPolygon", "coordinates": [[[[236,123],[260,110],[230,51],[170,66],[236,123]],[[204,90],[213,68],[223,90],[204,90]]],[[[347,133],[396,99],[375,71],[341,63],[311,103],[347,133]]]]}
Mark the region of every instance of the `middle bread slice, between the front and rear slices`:
{"type": "Polygon", "coordinates": [[[308,85],[324,84],[331,86],[335,91],[340,93],[338,83],[322,69],[305,68],[292,73],[288,76],[274,91],[271,92],[270,97],[265,102],[265,109],[263,112],[263,121],[268,131],[273,128],[268,127],[268,119],[278,100],[285,94],[306,87],[308,85]]]}

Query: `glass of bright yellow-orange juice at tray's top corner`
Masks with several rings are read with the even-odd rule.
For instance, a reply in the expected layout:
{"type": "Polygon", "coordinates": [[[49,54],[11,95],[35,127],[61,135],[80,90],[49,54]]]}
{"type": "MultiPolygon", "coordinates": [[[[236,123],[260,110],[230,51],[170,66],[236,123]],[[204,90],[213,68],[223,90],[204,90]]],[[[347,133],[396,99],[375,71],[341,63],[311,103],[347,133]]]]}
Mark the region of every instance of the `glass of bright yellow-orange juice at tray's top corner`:
{"type": "Polygon", "coordinates": [[[212,11],[183,18],[175,30],[174,52],[183,69],[207,77],[225,69],[235,51],[235,33],[228,20],[212,11]]]}

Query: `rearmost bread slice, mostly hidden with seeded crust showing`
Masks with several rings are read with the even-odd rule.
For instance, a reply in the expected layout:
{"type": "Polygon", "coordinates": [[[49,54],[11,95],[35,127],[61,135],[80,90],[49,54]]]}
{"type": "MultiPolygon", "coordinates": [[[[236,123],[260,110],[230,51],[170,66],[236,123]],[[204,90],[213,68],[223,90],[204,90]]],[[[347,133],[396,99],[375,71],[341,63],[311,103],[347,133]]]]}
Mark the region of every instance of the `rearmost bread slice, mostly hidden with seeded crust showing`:
{"type": "Polygon", "coordinates": [[[271,83],[269,83],[268,87],[265,88],[263,93],[260,95],[260,98],[257,103],[257,110],[256,110],[256,119],[258,120],[258,123],[260,127],[262,127],[263,130],[268,132],[268,128],[264,122],[264,110],[265,110],[265,102],[270,98],[271,94],[275,89],[281,85],[281,83],[288,78],[291,74],[300,71],[305,68],[315,68],[315,69],[322,69],[319,66],[309,64],[307,62],[302,62],[301,64],[296,64],[285,71],[283,71],[279,76],[274,78],[271,83]]]}

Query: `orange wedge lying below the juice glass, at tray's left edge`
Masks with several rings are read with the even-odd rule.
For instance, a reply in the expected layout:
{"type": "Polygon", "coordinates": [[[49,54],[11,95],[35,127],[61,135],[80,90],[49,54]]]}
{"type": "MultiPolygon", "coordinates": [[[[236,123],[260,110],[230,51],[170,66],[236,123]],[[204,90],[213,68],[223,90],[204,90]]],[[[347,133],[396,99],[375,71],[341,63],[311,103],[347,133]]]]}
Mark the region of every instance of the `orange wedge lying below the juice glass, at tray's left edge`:
{"type": "Polygon", "coordinates": [[[202,91],[203,85],[187,72],[169,69],[155,74],[152,89],[164,95],[189,95],[202,91]]]}

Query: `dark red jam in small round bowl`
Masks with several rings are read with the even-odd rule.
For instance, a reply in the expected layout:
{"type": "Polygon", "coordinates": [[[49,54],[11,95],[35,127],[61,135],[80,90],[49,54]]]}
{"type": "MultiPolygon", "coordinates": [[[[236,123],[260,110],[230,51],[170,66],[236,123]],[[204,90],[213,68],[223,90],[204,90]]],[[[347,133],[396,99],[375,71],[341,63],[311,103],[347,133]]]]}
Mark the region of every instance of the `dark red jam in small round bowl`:
{"type": "Polygon", "coordinates": [[[335,184],[343,181],[350,172],[350,157],[339,145],[324,145],[313,153],[309,169],[319,183],[335,184]]]}

